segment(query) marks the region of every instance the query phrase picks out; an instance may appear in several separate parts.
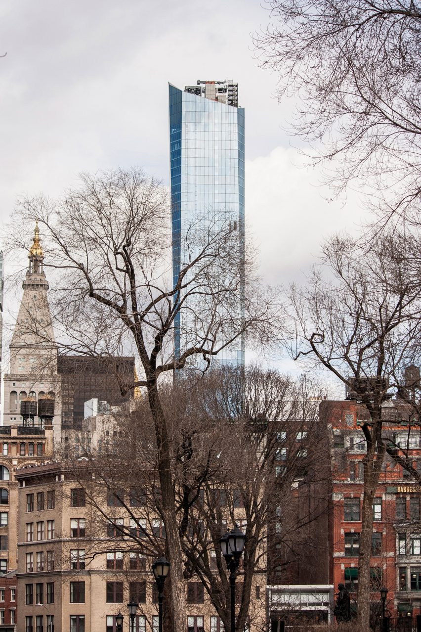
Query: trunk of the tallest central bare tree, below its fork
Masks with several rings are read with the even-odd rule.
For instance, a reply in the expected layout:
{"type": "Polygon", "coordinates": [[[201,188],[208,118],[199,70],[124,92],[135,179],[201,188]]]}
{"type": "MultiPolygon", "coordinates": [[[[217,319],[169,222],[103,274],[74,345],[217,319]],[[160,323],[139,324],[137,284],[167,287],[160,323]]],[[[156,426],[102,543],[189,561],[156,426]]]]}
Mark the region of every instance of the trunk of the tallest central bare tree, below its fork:
{"type": "Polygon", "coordinates": [[[162,494],[162,516],[167,538],[170,566],[170,594],[172,609],[172,629],[174,632],[186,632],[186,596],[184,592],[184,576],[181,554],[181,542],[175,515],[174,485],[171,474],[170,447],[167,423],[163,415],[157,384],[148,386],[150,410],[155,423],[155,434],[158,449],[158,473],[162,494]]]}

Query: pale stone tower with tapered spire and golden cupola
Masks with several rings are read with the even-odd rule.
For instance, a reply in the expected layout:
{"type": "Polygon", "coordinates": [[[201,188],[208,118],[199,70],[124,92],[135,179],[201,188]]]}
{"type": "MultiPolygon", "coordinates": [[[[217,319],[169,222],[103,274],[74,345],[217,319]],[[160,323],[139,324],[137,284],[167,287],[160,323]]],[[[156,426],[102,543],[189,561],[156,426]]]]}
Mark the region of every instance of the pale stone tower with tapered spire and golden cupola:
{"type": "Polygon", "coordinates": [[[35,225],[23,296],[9,346],[10,373],[4,375],[4,425],[21,422],[20,401],[50,393],[56,399],[54,434],[60,436],[60,397],[57,345],[47,299],[44,249],[38,222],[35,225]]]}

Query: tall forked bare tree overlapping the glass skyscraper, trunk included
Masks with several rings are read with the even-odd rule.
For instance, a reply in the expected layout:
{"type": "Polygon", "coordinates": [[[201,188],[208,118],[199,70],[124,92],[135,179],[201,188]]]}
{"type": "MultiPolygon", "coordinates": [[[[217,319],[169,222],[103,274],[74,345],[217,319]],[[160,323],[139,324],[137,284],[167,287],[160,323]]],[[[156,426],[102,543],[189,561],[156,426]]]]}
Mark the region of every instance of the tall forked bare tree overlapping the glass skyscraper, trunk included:
{"type": "Polygon", "coordinates": [[[21,200],[13,248],[27,248],[27,236],[18,234],[19,227],[29,226],[35,218],[48,253],[44,265],[51,270],[54,285],[49,291],[50,308],[62,349],[121,355],[123,349],[133,348],[141,362],[143,379],[134,386],[146,388],[153,418],[172,568],[174,630],[182,632],[186,621],[182,551],[172,447],[158,378],[181,370],[194,357],[201,358],[206,368],[210,358],[242,336],[273,341],[276,292],[261,288],[253,257],[244,262],[228,212],[189,228],[187,260],[177,278],[171,279],[167,195],[136,169],[84,174],[79,188],[56,201],[42,196],[21,200]],[[244,310],[238,308],[242,288],[244,310]],[[175,331],[182,334],[177,355],[175,331]]]}

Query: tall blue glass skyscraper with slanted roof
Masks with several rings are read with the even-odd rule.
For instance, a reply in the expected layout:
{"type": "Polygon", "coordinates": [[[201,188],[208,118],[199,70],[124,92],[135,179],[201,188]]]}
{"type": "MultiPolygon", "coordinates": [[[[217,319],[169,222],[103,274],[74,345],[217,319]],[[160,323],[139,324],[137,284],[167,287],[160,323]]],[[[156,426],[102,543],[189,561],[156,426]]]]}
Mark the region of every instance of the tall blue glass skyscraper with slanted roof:
{"type": "MultiPolygon", "coordinates": [[[[198,81],[184,90],[169,85],[170,183],[172,206],[172,272],[177,282],[188,260],[186,235],[192,224],[226,214],[234,221],[244,262],[244,108],[238,87],[198,81]]],[[[244,288],[238,313],[244,313],[244,288]]],[[[175,322],[175,355],[180,353],[180,322],[175,322]]],[[[217,361],[244,365],[244,339],[216,356],[217,361]]]]}

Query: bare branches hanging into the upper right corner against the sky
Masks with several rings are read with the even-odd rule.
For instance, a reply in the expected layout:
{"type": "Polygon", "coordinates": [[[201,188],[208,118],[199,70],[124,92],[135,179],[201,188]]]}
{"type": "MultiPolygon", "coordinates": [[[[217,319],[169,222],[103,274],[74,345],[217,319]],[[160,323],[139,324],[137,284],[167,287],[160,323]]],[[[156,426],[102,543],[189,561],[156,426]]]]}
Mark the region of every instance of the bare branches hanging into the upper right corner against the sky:
{"type": "Polygon", "coordinates": [[[278,97],[298,100],[292,131],[314,143],[335,192],[369,188],[387,214],[419,221],[421,7],[412,0],[268,0],[255,35],[278,97]]]}

